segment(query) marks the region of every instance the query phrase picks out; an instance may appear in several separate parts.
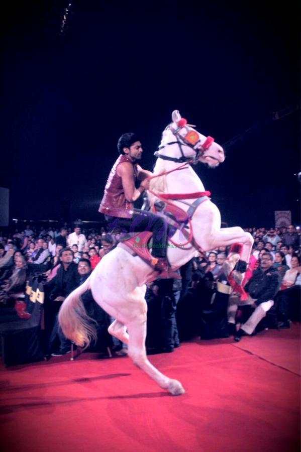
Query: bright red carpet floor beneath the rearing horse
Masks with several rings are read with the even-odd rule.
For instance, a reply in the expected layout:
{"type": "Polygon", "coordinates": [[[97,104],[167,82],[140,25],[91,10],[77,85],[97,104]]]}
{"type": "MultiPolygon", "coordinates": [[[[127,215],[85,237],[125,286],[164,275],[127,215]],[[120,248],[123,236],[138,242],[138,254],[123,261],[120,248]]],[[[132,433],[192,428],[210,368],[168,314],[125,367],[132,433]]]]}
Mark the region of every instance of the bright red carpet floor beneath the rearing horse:
{"type": "Polygon", "coordinates": [[[150,356],[170,396],[126,358],[84,353],[1,367],[2,449],[20,452],[299,450],[299,325],[150,356]]]}

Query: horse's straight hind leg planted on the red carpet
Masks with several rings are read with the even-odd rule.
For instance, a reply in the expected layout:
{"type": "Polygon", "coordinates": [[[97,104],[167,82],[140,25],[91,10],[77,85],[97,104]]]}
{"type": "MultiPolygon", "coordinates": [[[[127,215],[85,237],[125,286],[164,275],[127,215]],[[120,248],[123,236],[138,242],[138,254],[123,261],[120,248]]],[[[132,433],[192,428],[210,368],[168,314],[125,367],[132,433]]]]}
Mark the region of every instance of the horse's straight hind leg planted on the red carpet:
{"type": "Polygon", "coordinates": [[[145,350],[146,339],[146,314],[140,314],[127,325],[129,331],[128,355],[134,364],[155,380],[158,385],[167,389],[172,395],[184,394],[181,383],[161,374],[147,359],[145,350]]]}

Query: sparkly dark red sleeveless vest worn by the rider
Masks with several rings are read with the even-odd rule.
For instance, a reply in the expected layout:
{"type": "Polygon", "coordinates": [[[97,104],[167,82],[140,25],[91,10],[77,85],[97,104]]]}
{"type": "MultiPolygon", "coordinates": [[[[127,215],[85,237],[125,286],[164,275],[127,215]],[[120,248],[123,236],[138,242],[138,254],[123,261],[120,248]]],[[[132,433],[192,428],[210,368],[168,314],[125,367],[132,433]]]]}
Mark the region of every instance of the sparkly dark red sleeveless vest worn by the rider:
{"type": "Polygon", "coordinates": [[[133,163],[127,155],[120,155],[110,171],[105,187],[105,194],[98,212],[110,216],[118,216],[119,218],[132,218],[133,202],[126,199],[122,186],[122,179],[116,171],[118,165],[123,162],[130,162],[133,165],[135,179],[137,178],[137,163],[133,163]]]}

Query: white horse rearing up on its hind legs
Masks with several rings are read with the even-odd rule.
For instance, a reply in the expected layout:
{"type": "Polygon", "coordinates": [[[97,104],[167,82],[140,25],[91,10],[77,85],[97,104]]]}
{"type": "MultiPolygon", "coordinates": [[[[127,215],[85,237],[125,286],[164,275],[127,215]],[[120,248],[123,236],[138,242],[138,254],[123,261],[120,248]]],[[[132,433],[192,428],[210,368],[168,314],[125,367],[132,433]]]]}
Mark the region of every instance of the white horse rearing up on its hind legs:
{"type": "MultiPolygon", "coordinates": [[[[207,196],[199,198],[199,193],[205,189],[189,164],[193,159],[194,162],[216,167],[225,160],[223,148],[187,125],[186,120],[175,110],[172,123],[163,132],[156,155],[158,159],[154,175],[164,175],[152,178],[151,191],[158,193],[159,199],[160,193],[182,193],[182,200],[172,202],[185,211],[195,201],[190,220],[195,246],[209,251],[240,242],[243,244],[241,259],[248,262],[253,245],[252,236],[241,228],[221,229],[219,209],[207,196]],[[189,163],[185,164],[186,161],[189,163]],[[191,194],[195,194],[195,198],[187,202],[191,194]],[[199,202],[198,198],[204,202],[199,202]]],[[[180,230],[176,231],[172,241],[178,244],[187,242],[180,230]]],[[[191,243],[168,247],[167,250],[167,258],[174,269],[188,262],[194,254],[195,247],[191,243]]],[[[236,261],[232,269],[235,264],[236,261]]],[[[139,256],[126,251],[124,247],[116,247],[104,256],[89,278],[65,299],[60,308],[59,323],[65,336],[75,344],[83,346],[90,343],[91,338],[95,337],[95,328],[85,313],[80,295],[91,289],[94,300],[116,319],[109,326],[109,332],[128,344],[128,356],[161,388],[179,395],[184,393],[181,383],[159,372],[146,355],[145,283],[152,280],[153,273],[152,267],[139,256]]]]}

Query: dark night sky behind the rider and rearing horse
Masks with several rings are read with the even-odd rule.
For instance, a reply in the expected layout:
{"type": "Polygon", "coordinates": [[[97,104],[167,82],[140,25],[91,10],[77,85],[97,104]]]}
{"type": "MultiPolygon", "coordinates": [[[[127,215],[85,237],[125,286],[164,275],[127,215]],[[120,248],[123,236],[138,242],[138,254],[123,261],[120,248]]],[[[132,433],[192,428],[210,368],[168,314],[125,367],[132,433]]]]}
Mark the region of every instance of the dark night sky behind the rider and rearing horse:
{"type": "Polygon", "coordinates": [[[224,144],[216,170],[198,165],[222,220],[299,224],[297,2],[24,2],[3,17],[0,186],[10,217],[99,220],[116,143],[142,136],[152,169],[179,109],[224,144]],[[257,124],[249,133],[243,133],[257,124]]]}

